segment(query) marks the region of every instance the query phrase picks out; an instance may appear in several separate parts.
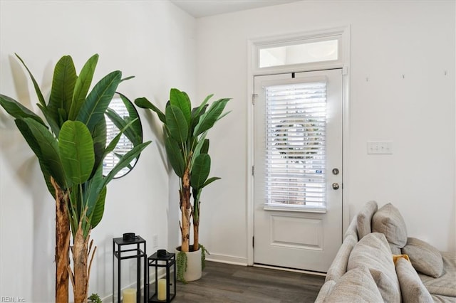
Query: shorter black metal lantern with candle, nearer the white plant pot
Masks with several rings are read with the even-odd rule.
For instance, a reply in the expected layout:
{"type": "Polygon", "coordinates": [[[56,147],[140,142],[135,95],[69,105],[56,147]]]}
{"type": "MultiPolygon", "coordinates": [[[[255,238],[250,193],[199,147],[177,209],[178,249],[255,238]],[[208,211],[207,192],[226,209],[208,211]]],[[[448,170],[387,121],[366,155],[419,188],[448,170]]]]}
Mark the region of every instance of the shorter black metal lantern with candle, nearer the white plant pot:
{"type": "MultiPolygon", "coordinates": [[[[155,268],[155,283],[149,282],[149,299],[148,302],[171,302],[176,296],[176,254],[167,252],[166,250],[158,250],[153,255],[147,258],[148,268],[155,268]],[[165,277],[159,279],[160,268],[165,269],[165,277]],[[153,291],[155,290],[155,292],[153,291]]],[[[147,275],[150,279],[150,274],[147,275]]]]}

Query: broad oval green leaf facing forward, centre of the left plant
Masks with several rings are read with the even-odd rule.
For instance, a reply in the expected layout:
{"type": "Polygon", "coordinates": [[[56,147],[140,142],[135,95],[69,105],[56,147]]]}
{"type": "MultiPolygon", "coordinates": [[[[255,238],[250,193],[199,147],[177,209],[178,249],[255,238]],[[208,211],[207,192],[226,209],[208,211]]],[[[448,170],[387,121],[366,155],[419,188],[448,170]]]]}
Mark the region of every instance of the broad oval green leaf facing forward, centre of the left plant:
{"type": "Polygon", "coordinates": [[[93,139],[86,125],[79,121],[63,123],[58,148],[67,178],[74,184],[86,182],[95,163],[93,139]]]}

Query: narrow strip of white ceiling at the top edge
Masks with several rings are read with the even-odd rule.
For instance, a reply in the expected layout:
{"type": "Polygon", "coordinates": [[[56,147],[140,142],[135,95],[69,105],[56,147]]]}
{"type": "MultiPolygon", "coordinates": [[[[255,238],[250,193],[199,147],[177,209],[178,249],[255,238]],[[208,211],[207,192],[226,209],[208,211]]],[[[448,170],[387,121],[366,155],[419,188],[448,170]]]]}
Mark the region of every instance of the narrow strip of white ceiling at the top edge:
{"type": "Polygon", "coordinates": [[[257,9],[301,0],[170,0],[195,18],[257,9]]]}

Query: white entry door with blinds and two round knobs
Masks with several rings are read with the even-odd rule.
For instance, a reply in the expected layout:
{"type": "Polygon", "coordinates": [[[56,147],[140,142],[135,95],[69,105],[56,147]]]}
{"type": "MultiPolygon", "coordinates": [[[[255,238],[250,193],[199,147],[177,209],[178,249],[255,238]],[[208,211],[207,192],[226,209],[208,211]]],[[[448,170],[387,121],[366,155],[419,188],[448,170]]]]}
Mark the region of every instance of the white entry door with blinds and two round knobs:
{"type": "Polygon", "coordinates": [[[326,272],[342,243],[342,70],[254,78],[254,263],[326,272]]]}

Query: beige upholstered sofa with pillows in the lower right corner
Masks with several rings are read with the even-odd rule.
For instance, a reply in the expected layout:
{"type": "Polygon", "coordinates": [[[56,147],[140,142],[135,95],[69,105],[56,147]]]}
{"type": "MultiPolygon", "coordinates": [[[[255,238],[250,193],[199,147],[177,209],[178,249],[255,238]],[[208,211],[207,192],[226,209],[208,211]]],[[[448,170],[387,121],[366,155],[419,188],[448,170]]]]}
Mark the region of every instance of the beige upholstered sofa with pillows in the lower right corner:
{"type": "Polygon", "coordinates": [[[398,208],[369,201],[351,221],[316,302],[456,302],[456,254],[408,237],[398,208]]]}

